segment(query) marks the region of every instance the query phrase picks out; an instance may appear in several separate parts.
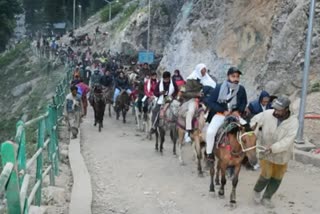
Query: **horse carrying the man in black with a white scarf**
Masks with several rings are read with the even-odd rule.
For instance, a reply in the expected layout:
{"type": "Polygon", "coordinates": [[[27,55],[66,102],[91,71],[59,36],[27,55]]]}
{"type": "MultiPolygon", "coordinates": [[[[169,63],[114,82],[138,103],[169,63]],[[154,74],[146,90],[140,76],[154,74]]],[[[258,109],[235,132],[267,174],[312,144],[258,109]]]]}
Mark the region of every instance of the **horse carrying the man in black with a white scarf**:
{"type": "Polygon", "coordinates": [[[178,110],[180,102],[178,100],[171,100],[172,98],[166,97],[166,102],[163,108],[160,110],[158,118],[159,123],[155,127],[156,135],[156,151],[159,150],[159,136],[160,136],[160,153],[163,152],[163,143],[165,141],[166,130],[170,131],[170,138],[173,142],[173,154],[176,155],[176,141],[177,141],[177,129],[176,121],[178,118],[178,110]],[[163,115],[162,115],[163,114],[163,115]]]}

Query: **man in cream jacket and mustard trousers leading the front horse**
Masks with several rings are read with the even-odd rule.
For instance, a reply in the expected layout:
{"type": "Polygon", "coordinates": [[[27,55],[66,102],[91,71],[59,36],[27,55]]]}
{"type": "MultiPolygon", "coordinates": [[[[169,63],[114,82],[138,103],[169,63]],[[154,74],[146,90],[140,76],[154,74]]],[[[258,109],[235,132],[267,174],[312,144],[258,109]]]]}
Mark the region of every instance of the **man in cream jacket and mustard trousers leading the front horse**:
{"type": "Polygon", "coordinates": [[[254,187],[254,200],[268,208],[274,207],[271,198],[287,170],[298,130],[298,119],[290,112],[289,106],[289,98],[281,96],[272,104],[274,109],[266,110],[251,120],[251,126],[262,131],[261,145],[266,148],[259,154],[261,174],[254,187]]]}

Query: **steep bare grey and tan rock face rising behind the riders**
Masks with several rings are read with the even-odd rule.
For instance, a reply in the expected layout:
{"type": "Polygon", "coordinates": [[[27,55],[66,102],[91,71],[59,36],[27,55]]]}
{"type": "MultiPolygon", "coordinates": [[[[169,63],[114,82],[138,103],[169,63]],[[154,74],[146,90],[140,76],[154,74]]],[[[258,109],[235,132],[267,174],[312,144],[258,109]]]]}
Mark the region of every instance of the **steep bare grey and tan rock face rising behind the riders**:
{"type": "MultiPolygon", "coordinates": [[[[134,2],[134,1],[132,1],[134,2]]],[[[153,1],[154,2],[154,1],[153,1]]],[[[150,49],[163,55],[159,71],[179,68],[186,77],[207,64],[219,81],[231,66],[244,73],[249,97],[260,90],[296,94],[301,88],[308,0],[161,0],[151,10],[150,49]]],[[[319,81],[320,2],[312,38],[311,84],[319,81]]],[[[114,32],[113,50],[146,49],[147,0],[114,32]]]]}

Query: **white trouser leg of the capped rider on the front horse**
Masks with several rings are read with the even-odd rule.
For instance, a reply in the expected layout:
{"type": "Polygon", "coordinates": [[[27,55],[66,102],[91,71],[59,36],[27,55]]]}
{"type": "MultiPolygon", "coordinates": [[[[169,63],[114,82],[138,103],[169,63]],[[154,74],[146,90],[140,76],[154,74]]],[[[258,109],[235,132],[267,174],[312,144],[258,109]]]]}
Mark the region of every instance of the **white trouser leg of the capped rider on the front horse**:
{"type": "Polygon", "coordinates": [[[220,126],[224,122],[225,116],[223,114],[217,113],[213,116],[208,129],[207,129],[207,136],[206,136],[206,143],[207,143],[207,154],[211,154],[214,144],[215,144],[215,137],[220,128],[220,126]]]}

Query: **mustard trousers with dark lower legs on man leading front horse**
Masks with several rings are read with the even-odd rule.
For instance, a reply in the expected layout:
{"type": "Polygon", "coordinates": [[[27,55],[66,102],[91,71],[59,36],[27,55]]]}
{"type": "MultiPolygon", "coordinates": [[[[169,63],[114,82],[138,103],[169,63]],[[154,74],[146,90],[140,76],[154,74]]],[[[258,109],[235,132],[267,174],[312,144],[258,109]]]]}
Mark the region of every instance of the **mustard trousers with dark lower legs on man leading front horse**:
{"type": "Polygon", "coordinates": [[[254,190],[256,192],[262,192],[265,189],[262,198],[271,199],[278,190],[288,165],[274,164],[267,160],[260,160],[260,167],[261,174],[254,190]]]}

